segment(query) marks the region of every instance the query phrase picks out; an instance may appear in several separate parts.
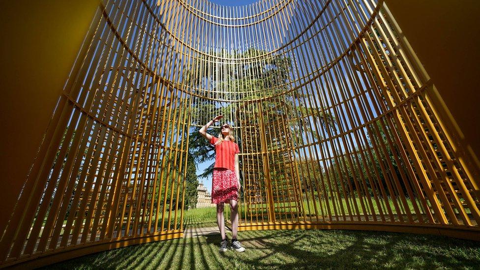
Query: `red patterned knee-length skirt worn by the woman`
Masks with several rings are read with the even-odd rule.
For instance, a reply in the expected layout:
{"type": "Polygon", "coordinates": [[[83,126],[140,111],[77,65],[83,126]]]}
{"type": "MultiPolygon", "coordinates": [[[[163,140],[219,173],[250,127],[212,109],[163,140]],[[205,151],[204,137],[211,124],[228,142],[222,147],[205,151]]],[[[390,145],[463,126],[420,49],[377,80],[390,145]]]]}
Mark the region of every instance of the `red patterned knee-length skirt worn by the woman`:
{"type": "Polygon", "coordinates": [[[229,203],[230,200],[239,200],[239,186],[234,171],[223,168],[213,169],[211,184],[211,203],[229,203]]]}

